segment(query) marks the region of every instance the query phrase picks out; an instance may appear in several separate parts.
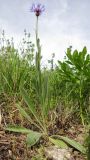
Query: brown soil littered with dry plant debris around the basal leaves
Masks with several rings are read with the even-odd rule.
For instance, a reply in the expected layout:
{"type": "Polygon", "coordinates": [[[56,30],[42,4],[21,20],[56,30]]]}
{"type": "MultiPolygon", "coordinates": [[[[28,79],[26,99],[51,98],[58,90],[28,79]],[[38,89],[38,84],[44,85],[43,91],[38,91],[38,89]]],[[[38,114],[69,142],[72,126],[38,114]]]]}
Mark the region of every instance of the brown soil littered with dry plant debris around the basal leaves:
{"type": "MultiPolygon", "coordinates": [[[[14,109],[15,110],[15,109],[14,109]]],[[[17,111],[16,111],[17,112],[17,111]]],[[[2,123],[0,125],[0,160],[59,160],[49,157],[49,149],[53,147],[51,143],[41,139],[35,146],[29,147],[26,144],[26,135],[22,133],[14,133],[5,131],[7,124],[20,124],[23,123],[24,127],[30,128],[28,122],[20,119],[19,113],[12,112],[10,117],[8,112],[3,111],[2,123]],[[46,151],[48,149],[48,152],[46,151]]],[[[51,124],[50,124],[51,125],[51,124]]],[[[33,127],[33,130],[35,128],[33,127]]],[[[65,122],[60,118],[56,118],[54,124],[48,128],[49,135],[58,134],[70,137],[77,142],[83,144],[85,134],[84,128],[81,124],[78,124],[74,119],[68,118],[65,122]]],[[[70,158],[67,160],[85,160],[85,156],[77,150],[70,148],[70,158]]],[[[53,153],[55,155],[55,151],[53,153]]]]}

